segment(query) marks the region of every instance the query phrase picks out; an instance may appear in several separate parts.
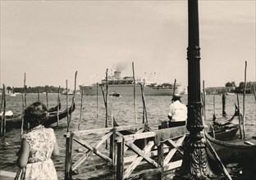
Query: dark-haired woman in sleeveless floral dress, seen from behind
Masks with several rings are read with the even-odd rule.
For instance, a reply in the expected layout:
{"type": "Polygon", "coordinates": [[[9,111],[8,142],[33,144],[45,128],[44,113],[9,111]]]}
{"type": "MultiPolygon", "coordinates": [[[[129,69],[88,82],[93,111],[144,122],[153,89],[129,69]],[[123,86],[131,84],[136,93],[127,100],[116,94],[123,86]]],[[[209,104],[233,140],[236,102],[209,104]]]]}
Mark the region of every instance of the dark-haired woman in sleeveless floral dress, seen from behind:
{"type": "Polygon", "coordinates": [[[24,111],[24,121],[30,123],[30,132],[23,134],[21,150],[17,152],[19,167],[15,179],[57,179],[57,172],[51,159],[58,155],[53,128],[44,128],[48,111],[41,102],[34,102],[24,111]]]}

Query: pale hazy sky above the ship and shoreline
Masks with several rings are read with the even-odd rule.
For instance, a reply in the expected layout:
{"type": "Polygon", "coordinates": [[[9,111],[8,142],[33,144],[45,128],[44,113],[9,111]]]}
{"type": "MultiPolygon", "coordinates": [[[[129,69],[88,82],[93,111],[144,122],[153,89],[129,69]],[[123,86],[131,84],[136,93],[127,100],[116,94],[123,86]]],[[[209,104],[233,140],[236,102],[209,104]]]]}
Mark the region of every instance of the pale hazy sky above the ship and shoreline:
{"type": "MultiPolygon", "coordinates": [[[[1,0],[0,83],[95,83],[123,76],[188,84],[188,5],[169,1],[1,0]]],[[[256,1],[199,0],[200,79],[205,87],[256,81],[256,1]]],[[[2,86],[2,85],[1,85],[2,86]]],[[[202,86],[202,85],[201,85],[202,86]]]]}

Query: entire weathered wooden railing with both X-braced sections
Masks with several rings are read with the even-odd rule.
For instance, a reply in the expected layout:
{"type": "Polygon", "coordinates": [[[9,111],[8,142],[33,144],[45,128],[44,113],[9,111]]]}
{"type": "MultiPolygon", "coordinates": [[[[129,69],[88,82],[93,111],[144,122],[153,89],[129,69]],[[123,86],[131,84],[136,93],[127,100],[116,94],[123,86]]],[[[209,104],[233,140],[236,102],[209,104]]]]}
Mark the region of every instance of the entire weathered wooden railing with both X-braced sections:
{"type": "Polygon", "coordinates": [[[139,124],[66,133],[65,179],[71,179],[72,173],[78,169],[86,168],[81,164],[88,160],[91,154],[97,155],[111,167],[113,178],[118,180],[139,177],[143,173],[159,174],[159,178],[162,178],[163,173],[180,167],[181,158],[173,160],[173,157],[177,151],[180,156],[183,155],[181,145],[185,139],[184,131],[181,133],[181,128],[166,128],[147,132],[146,129],[148,129],[146,124],[139,124]],[[134,133],[131,134],[130,129],[133,129],[134,133]],[[180,130],[176,131],[176,129],[180,130]],[[163,136],[159,139],[161,133],[167,134],[167,137],[163,136]],[[89,141],[90,137],[96,134],[100,136],[98,141],[96,143],[89,141]],[[87,151],[83,152],[80,159],[72,164],[75,156],[73,155],[74,141],[87,151]],[[103,151],[106,149],[102,145],[106,141],[109,142],[109,149],[103,151]],[[149,167],[138,170],[144,165],[149,167]]]}

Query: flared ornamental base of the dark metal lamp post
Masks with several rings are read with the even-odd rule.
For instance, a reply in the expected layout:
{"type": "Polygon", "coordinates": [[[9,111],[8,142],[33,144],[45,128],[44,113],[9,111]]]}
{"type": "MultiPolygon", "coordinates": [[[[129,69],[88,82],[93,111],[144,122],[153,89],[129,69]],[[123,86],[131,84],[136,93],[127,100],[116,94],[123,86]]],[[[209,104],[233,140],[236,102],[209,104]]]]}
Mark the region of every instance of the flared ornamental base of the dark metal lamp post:
{"type": "Polygon", "coordinates": [[[184,158],[174,179],[218,179],[209,167],[205,143],[201,134],[185,137],[184,158]]]}

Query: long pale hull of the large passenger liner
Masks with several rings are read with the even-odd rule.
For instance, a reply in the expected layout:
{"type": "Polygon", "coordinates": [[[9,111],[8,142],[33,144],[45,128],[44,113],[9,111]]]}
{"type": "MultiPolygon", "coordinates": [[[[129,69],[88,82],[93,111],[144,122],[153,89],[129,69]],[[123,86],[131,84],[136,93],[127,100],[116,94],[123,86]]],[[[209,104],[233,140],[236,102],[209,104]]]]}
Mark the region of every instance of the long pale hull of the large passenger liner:
{"type": "MultiPolygon", "coordinates": [[[[121,96],[133,96],[134,95],[134,85],[133,84],[109,84],[108,93],[117,92],[121,96]]],[[[98,85],[83,86],[80,85],[80,92],[84,91],[84,95],[89,96],[100,96],[103,95],[101,87],[98,85]]],[[[103,86],[103,91],[106,92],[106,86],[103,86]]],[[[135,94],[141,95],[141,88],[139,84],[135,86],[135,94]]],[[[173,88],[172,87],[149,87],[144,86],[144,95],[145,96],[172,96],[173,88]]]]}

